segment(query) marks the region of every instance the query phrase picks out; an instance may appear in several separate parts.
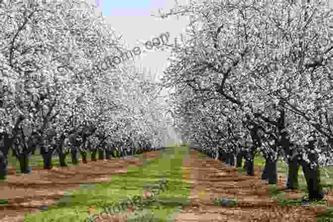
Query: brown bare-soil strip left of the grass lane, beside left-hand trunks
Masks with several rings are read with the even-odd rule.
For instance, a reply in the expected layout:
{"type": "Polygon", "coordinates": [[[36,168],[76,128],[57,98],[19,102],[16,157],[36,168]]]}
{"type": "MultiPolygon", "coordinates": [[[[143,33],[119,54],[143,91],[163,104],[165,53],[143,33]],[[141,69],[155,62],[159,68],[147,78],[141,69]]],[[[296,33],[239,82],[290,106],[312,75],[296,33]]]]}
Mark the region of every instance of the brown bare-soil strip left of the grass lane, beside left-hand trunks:
{"type": "MultiPolygon", "coordinates": [[[[143,154],[144,159],[156,158],[158,151],[143,154]]],[[[8,199],[0,206],[0,222],[23,222],[25,214],[37,214],[40,206],[54,206],[64,191],[76,190],[80,183],[111,181],[111,174],[127,172],[127,166],[143,166],[143,159],[111,159],[78,166],[32,167],[31,174],[15,174],[8,169],[8,182],[0,183],[0,198],[8,199]]]]}

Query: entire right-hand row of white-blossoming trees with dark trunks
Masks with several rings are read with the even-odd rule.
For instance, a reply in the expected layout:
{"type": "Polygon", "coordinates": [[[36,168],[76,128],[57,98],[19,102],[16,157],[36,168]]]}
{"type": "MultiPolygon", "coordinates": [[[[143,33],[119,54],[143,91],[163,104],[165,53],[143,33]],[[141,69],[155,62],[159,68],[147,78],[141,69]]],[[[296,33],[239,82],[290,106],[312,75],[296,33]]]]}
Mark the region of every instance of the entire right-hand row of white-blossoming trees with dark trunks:
{"type": "Polygon", "coordinates": [[[333,154],[333,10],[328,0],[208,0],[162,17],[189,15],[164,85],[174,125],[191,144],[238,166],[266,159],[277,183],[285,153],[288,189],[304,171],[310,199],[324,198],[320,167],[333,154]]]}

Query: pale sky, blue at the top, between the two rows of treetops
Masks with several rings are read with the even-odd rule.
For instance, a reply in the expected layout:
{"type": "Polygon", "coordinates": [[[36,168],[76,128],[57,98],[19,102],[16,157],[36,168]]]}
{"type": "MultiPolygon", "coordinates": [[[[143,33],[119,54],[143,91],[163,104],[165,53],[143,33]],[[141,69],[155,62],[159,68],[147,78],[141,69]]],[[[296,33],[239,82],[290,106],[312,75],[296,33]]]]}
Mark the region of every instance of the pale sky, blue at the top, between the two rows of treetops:
{"type": "MultiPolygon", "coordinates": [[[[144,50],[144,43],[151,41],[163,33],[169,32],[169,44],[174,43],[174,37],[179,37],[180,33],[185,34],[185,27],[188,24],[186,17],[177,19],[157,18],[151,14],[158,14],[159,8],[169,12],[175,6],[174,0],[86,0],[95,4],[98,12],[102,12],[107,22],[122,38],[120,42],[128,50],[140,47],[144,50]]],[[[180,4],[187,4],[189,0],[178,0],[180,4]]],[[[157,78],[161,78],[168,61],[170,52],[162,50],[152,50],[142,52],[139,56],[134,56],[134,65],[141,72],[151,70],[157,73],[157,78]]]]}

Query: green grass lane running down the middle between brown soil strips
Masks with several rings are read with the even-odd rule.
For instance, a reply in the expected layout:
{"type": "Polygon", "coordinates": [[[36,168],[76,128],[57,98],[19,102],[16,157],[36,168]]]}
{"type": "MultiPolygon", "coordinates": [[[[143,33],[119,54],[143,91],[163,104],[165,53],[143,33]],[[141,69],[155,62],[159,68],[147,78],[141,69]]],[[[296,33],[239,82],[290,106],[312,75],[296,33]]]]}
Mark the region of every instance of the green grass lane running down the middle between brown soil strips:
{"type": "Polygon", "coordinates": [[[37,215],[26,215],[24,221],[83,222],[88,217],[88,208],[92,209],[91,214],[102,213],[104,206],[111,206],[127,197],[142,196],[149,183],[156,183],[163,177],[169,181],[168,189],[159,194],[159,204],[147,209],[146,213],[153,213],[157,221],[165,222],[179,207],[189,206],[190,184],[182,182],[183,158],[189,158],[188,147],[160,151],[160,157],[147,161],[146,166],[132,166],[128,169],[131,172],[111,175],[112,182],[81,184],[79,190],[67,192],[64,198],[59,199],[56,206],[37,215]]]}

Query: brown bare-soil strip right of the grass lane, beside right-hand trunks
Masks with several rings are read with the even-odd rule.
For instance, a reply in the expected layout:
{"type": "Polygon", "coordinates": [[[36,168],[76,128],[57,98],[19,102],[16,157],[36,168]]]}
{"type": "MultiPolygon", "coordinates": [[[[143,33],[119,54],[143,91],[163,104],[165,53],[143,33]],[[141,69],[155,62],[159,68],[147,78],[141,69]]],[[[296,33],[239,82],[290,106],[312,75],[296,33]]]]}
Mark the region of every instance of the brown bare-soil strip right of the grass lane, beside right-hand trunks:
{"type": "MultiPolygon", "coordinates": [[[[177,222],[314,222],[323,207],[279,207],[270,198],[269,184],[255,176],[241,175],[236,167],[222,167],[214,159],[198,159],[198,151],[183,160],[183,178],[191,185],[191,207],[175,216],[177,222]],[[216,207],[215,198],[235,198],[238,207],[216,207]]],[[[285,176],[279,176],[278,189],[285,189],[285,176]]],[[[328,194],[328,193],[327,193],[328,194]]],[[[301,198],[300,191],[289,191],[287,198],[301,198]]],[[[331,199],[333,196],[328,196],[331,199]]]]}

